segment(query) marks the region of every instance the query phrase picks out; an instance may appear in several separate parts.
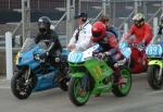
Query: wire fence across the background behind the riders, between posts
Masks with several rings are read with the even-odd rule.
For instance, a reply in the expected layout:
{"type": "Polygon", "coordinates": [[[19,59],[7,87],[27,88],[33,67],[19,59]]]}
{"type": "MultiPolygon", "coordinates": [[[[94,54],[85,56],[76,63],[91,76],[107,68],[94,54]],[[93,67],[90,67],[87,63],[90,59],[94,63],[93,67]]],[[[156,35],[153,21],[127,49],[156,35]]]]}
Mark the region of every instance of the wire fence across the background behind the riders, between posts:
{"type": "MultiPolygon", "coordinates": [[[[138,12],[142,12],[151,25],[153,25],[153,17],[159,17],[163,10],[163,0],[75,0],[75,14],[87,12],[91,22],[97,21],[98,15],[102,14],[103,1],[106,8],[105,13],[112,18],[112,25],[120,34],[124,32],[124,23],[129,26],[133,24],[131,17],[136,12],[136,4],[138,12]]],[[[66,2],[67,0],[30,0],[32,36],[36,36],[38,33],[37,20],[45,15],[52,20],[54,26],[58,25],[55,30],[64,41],[66,37],[66,2]]],[[[14,35],[22,36],[21,20],[22,0],[0,0],[0,47],[5,43],[3,39],[5,32],[16,29],[14,35]]],[[[75,28],[76,25],[74,25],[75,28]]],[[[63,43],[65,45],[65,42],[63,43]]],[[[2,54],[4,53],[0,53],[0,58],[2,54]]],[[[4,65],[4,60],[0,63],[4,65]]]]}

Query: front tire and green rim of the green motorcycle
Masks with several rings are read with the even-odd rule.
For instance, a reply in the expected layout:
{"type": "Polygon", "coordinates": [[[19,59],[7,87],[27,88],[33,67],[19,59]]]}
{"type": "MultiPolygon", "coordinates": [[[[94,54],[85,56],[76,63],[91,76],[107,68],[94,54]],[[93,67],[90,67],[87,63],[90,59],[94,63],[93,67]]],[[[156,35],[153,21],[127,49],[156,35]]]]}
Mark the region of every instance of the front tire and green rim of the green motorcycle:
{"type": "Polygon", "coordinates": [[[84,105],[89,97],[90,97],[90,89],[89,89],[89,82],[85,83],[87,85],[87,89],[83,92],[85,92],[84,95],[79,95],[79,89],[80,92],[82,90],[84,90],[82,87],[77,88],[77,86],[82,86],[80,83],[83,82],[83,78],[78,78],[78,77],[72,77],[72,79],[70,80],[70,85],[68,85],[68,96],[71,101],[75,104],[75,105],[84,105]]]}

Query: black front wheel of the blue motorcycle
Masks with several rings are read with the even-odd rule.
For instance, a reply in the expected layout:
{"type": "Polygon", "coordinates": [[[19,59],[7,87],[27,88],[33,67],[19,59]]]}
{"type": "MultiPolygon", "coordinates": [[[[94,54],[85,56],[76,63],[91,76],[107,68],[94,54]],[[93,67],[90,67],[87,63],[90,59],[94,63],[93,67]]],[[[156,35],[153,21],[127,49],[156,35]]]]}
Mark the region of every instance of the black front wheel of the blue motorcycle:
{"type": "Polygon", "coordinates": [[[22,100],[27,99],[30,96],[30,94],[36,85],[36,76],[35,75],[30,75],[30,76],[33,76],[29,78],[32,80],[32,83],[28,85],[25,85],[24,76],[25,76],[26,71],[27,70],[17,71],[17,73],[11,79],[12,94],[17,99],[22,99],[22,100]]]}

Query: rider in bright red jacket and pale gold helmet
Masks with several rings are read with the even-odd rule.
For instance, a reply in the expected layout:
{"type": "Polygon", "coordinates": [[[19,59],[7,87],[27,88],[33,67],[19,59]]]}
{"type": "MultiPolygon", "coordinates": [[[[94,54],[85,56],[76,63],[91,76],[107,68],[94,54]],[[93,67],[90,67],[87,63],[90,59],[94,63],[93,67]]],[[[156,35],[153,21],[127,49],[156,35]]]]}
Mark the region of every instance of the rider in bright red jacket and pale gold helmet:
{"type": "Polygon", "coordinates": [[[135,35],[135,42],[143,45],[147,47],[152,40],[153,33],[151,26],[145,22],[145,16],[142,13],[137,13],[134,17],[134,25],[131,25],[129,32],[125,35],[123,39],[135,35]]]}

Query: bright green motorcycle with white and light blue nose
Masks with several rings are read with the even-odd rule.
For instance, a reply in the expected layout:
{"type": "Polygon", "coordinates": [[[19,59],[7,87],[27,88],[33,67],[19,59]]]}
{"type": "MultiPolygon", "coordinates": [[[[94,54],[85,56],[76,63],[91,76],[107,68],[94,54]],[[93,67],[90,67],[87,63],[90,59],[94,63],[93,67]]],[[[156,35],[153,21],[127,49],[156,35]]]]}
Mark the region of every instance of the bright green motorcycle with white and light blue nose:
{"type": "Polygon", "coordinates": [[[68,96],[75,105],[84,105],[90,95],[112,91],[117,97],[127,96],[131,87],[131,75],[125,60],[115,63],[120,75],[103,59],[95,55],[96,45],[84,52],[68,55],[70,76],[68,96]]]}

